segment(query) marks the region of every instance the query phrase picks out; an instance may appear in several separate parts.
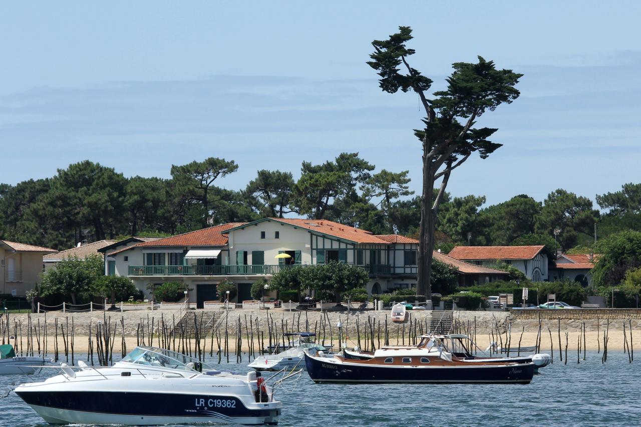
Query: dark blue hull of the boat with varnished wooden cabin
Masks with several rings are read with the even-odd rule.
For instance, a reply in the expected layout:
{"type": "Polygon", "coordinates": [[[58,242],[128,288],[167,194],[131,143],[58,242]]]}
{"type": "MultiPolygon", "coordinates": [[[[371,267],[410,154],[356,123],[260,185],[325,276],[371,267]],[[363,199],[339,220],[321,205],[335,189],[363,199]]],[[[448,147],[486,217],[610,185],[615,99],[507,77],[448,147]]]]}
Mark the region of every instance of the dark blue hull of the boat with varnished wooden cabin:
{"type": "Polygon", "coordinates": [[[315,383],[529,383],[533,363],[518,365],[382,366],[318,360],[305,355],[315,383]]]}

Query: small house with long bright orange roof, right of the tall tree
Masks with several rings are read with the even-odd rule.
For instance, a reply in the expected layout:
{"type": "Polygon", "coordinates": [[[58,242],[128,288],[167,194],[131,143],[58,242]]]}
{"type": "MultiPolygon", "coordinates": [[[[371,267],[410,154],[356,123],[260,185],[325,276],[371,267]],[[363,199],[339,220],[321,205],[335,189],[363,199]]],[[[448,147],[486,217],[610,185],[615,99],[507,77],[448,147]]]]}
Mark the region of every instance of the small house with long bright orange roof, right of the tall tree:
{"type": "Polygon", "coordinates": [[[449,256],[484,267],[504,262],[518,269],[531,281],[549,280],[549,263],[553,259],[553,255],[543,245],[456,246],[449,256]]]}

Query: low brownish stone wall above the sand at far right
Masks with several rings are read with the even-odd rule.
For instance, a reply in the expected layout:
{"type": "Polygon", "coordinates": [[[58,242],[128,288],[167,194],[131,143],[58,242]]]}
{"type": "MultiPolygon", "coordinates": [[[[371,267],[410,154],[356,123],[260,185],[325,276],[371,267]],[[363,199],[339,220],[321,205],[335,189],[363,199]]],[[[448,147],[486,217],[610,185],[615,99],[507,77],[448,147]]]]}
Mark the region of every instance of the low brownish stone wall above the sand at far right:
{"type": "Polygon", "coordinates": [[[510,309],[510,315],[517,320],[533,320],[540,318],[544,320],[556,319],[641,319],[641,308],[581,308],[580,310],[532,310],[522,308],[510,309]]]}

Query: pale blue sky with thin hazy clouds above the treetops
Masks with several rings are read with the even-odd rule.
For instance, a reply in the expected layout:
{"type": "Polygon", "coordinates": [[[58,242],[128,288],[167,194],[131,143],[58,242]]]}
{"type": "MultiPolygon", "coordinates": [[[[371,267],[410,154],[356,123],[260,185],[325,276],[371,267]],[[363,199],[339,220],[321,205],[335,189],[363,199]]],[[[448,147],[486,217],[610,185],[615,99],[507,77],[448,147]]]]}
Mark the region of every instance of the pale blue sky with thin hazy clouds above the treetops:
{"type": "Polygon", "coordinates": [[[413,28],[412,66],[443,87],[477,55],[524,74],[487,112],[504,144],[453,172],[453,196],[594,199],[641,182],[638,1],[10,2],[0,13],[0,182],[92,160],[168,178],[214,156],[244,188],[358,152],[420,193],[419,99],[387,94],[374,39],[413,28]]]}

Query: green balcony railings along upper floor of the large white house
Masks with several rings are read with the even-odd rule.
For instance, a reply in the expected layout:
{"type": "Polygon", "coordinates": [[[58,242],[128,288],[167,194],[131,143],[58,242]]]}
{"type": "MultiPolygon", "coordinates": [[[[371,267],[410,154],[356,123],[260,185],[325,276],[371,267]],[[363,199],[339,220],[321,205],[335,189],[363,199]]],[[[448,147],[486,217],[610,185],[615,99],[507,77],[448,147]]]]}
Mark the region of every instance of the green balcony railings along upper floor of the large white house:
{"type": "MultiPolygon", "coordinates": [[[[309,264],[303,264],[305,266],[308,267],[309,264]]],[[[129,276],[255,276],[273,275],[291,267],[294,265],[129,265],[129,276]]],[[[369,264],[361,267],[370,276],[417,273],[415,265],[395,267],[389,264],[369,264]]]]}

